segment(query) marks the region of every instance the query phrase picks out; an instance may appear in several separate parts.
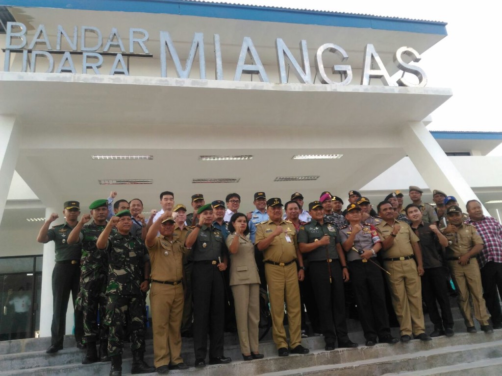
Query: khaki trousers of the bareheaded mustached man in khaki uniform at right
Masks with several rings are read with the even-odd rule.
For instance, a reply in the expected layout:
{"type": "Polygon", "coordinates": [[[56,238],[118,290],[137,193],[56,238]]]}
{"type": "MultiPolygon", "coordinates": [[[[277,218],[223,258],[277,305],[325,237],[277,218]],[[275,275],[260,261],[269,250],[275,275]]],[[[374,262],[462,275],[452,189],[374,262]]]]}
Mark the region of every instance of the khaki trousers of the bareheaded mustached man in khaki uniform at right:
{"type": "Polygon", "coordinates": [[[415,260],[384,261],[392,305],[399,321],[401,335],[425,333],[422,309],[422,283],[415,260]]]}

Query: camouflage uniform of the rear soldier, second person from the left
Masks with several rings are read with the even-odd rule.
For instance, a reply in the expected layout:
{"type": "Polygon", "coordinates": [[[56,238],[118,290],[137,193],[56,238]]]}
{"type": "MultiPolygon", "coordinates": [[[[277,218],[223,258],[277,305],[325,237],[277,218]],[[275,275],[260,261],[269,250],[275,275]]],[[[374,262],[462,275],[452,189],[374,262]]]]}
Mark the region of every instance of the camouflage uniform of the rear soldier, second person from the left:
{"type": "Polygon", "coordinates": [[[80,230],[82,257],[80,259],[80,290],[76,306],[84,314],[83,342],[105,342],[108,328],[105,325],[106,314],[106,282],[108,280],[108,257],[105,250],[98,250],[96,241],[106,225],[94,222],[80,230]],[[98,327],[97,315],[101,325],[98,327]]]}

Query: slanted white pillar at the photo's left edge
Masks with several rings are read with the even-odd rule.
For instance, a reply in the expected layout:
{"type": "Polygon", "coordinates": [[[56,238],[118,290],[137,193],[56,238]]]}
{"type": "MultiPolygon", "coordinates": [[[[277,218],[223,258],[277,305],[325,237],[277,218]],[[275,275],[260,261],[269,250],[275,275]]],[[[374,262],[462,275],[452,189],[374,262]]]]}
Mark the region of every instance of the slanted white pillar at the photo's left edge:
{"type": "Polygon", "coordinates": [[[13,116],[0,115],[0,224],[19,155],[19,124],[13,116]]]}

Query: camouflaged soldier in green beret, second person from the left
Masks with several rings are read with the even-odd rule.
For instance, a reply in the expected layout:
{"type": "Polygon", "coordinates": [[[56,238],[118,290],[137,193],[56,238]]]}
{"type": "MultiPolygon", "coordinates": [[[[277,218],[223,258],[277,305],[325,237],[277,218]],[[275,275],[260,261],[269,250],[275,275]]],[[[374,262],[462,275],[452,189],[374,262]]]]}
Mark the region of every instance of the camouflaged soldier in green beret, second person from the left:
{"type": "MultiPolygon", "coordinates": [[[[108,259],[104,250],[96,248],[96,240],[106,226],[108,201],[96,200],[90,206],[90,215],[84,214],[68,236],[68,245],[82,242],[80,259],[80,289],[76,300],[76,308],[84,315],[83,342],[87,346],[87,354],[82,364],[94,363],[98,360],[108,361],[108,328],[106,327],[106,282],[108,259]],[[84,226],[90,219],[93,222],[84,226]],[[97,323],[99,313],[100,325],[97,323]],[[99,358],[96,342],[100,340],[99,358]]],[[[115,229],[112,231],[114,232],[115,229]]]]}

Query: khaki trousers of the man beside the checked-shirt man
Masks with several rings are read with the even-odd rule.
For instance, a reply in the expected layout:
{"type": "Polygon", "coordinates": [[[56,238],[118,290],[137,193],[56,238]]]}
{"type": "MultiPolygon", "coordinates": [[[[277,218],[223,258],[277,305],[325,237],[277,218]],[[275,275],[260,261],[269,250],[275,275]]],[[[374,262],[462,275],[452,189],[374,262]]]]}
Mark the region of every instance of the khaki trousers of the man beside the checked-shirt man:
{"type": "Polygon", "coordinates": [[[472,298],[474,306],[474,317],[481,325],[488,325],[490,316],[486,311],[486,303],[483,299],[483,288],[481,285],[481,272],[477,260],[470,259],[467,265],[460,265],[458,261],[448,261],[451,279],[457,289],[457,303],[464,315],[465,326],[474,326],[472,310],[469,296],[472,298]]]}

